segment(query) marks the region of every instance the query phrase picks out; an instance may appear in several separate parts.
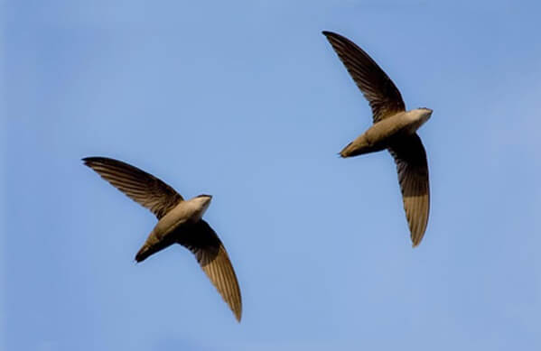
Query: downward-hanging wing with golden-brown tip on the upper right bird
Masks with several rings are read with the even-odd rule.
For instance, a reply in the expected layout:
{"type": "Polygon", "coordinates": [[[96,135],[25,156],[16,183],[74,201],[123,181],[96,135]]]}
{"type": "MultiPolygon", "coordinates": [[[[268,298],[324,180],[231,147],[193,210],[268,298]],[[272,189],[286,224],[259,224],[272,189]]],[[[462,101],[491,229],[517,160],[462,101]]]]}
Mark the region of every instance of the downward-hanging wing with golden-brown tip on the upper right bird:
{"type": "Polygon", "coordinates": [[[395,158],[406,218],[415,247],[423,239],[430,208],[426,152],[417,134],[397,140],[388,150],[395,158]]]}

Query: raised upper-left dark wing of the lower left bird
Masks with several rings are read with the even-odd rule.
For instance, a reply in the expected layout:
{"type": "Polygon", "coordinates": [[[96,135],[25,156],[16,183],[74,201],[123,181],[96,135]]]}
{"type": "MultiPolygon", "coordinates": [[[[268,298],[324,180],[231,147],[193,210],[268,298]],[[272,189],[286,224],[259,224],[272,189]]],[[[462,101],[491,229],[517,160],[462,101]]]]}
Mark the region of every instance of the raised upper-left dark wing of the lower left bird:
{"type": "Polygon", "coordinates": [[[125,162],[107,157],[82,160],[129,198],[150,209],[158,219],[182,201],[182,196],[162,180],[125,162]]]}

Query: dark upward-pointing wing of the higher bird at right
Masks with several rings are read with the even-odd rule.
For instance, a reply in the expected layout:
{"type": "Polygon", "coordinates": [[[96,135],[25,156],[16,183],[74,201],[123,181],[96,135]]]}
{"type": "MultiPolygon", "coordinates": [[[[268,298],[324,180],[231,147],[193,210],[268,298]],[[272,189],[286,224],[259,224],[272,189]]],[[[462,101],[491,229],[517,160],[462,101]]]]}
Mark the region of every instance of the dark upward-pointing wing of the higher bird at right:
{"type": "Polygon", "coordinates": [[[323,32],[372,108],[374,123],[406,110],[400,91],[368,53],[334,32],[323,32]]]}

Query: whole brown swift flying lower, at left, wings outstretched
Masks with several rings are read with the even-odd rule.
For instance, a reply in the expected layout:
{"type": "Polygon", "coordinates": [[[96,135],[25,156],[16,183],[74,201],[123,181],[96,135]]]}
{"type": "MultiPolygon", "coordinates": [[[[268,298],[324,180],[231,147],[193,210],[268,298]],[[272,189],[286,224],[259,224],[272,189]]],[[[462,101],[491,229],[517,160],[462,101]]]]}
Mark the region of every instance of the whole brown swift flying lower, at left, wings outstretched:
{"type": "Polygon", "coordinates": [[[186,247],[195,255],[203,272],[240,322],[242,302],[237,276],[219,237],[201,219],[212,197],[199,195],[184,200],[162,180],[125,162],[106,157],[87,157],[82,161],[158,218],[145,244],[135,255],[135,261],[143,262],[148,256],[173,244],[186,247]]]}

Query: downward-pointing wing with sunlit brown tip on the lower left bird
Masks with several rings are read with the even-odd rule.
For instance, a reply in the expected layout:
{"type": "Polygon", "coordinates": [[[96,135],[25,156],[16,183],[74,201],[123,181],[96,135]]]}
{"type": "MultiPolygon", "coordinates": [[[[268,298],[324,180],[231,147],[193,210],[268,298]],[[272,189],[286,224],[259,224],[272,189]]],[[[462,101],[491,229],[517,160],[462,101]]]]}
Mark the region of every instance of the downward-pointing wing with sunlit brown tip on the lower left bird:
{"type": "Polygon", "coordinates": [[[201,219],[192,230],[182,233],[177,241],[195,254],[203,272],[207,274],[210,282],[240,321],[242,300],[237,276],[229,261],[228,253],[214,230],[201,219]]]}

